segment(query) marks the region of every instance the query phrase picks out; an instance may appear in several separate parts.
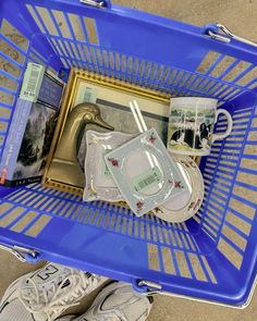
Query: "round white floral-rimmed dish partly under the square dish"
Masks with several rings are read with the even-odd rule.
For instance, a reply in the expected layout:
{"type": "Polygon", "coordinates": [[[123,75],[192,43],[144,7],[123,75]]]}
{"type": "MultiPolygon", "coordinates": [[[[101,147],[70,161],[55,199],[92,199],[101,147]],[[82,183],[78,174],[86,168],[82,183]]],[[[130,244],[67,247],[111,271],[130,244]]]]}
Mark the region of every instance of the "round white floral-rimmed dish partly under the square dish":
{"type": "Polygon", "coordinates": [[[199,168],[187,156],[174,156],[172,159],[184,170],[188,188],[154,209],[151,212],[161,220],[181,223],[191,219],[204,200],[205,185],[199,168]]]}

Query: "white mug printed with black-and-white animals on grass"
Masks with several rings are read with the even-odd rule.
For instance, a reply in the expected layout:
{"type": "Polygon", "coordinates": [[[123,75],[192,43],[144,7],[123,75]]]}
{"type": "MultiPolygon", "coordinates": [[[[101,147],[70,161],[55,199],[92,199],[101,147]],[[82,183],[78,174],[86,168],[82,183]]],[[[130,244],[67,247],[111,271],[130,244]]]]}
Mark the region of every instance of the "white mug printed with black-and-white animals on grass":
{"type": "Polygon", "coordinates": [[[171,98],[168,149],[180,155],[209,155],[211,144],[229,136],[233,126],[231,114],[224,109],[217,109],[217,103],[218,100],[211,98],[171,98]],[[222,134],[213,134],[213,127],[220,114],[227,119],[227,131],[222,134]]]}

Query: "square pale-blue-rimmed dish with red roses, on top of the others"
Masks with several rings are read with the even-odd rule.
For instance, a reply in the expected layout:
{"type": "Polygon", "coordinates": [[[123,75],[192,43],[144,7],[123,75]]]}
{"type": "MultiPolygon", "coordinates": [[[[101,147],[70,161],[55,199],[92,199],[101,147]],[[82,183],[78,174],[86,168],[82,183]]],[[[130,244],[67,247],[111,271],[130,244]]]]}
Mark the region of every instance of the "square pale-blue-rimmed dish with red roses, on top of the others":
{"type": "Polygon", "coordinates": [[[105,156],[113,181],[138,217],[187,188],[156,129],[105,156]]]}

